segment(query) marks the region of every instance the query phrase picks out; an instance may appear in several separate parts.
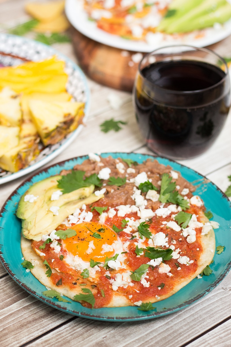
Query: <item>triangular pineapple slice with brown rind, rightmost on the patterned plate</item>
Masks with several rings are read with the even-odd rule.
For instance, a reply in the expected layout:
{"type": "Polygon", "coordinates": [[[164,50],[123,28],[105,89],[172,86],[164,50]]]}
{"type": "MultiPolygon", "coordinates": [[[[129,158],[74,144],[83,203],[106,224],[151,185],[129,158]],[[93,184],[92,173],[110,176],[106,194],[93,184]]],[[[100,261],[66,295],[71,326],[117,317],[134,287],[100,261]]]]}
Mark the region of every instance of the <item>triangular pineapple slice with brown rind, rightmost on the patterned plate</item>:
{"type": "Polygon", "coordinates": [[[31,115],[43,144],[55,144],[75,130],[83,116],[83,107],[82,102],[30,100],[31,115]]]}

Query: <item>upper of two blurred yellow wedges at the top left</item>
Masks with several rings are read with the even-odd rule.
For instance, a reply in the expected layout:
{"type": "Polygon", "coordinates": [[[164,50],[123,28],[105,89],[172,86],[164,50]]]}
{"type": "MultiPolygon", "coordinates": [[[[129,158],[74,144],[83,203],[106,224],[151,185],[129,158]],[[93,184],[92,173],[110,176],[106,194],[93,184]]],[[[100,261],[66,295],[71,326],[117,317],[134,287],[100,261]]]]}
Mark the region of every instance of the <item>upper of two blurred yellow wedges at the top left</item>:
{"type": "Polygon", "coordinates": [[[65,1],[50,1],[50,2],[28,2],[25,6],[26,12],[32,17],[49,22],[58,17],[64,10],[65,1]]]}

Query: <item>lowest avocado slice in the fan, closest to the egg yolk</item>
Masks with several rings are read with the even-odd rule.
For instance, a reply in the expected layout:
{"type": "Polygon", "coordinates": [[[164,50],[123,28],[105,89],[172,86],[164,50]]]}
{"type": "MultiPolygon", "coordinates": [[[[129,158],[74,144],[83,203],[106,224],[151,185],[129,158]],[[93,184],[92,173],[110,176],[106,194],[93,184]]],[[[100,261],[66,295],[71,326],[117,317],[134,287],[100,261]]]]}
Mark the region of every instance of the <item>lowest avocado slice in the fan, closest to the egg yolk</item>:
{"type": "Polygon", "coordinates": [[[91,194],[86,198],[68,202],[60,207],[58,215],[53,215],[53,213],[49,211],[30,230],[22,228],[23,236],[28,239],[39,241],[43,235],[49,235],[52,230],[56,229],[64,221],[64,219],[69,216],[69,214],[74,213],[77,208],[81,208],[82,204],[89,205],[103,197],[104,194],[99,196],[91,194]]]}

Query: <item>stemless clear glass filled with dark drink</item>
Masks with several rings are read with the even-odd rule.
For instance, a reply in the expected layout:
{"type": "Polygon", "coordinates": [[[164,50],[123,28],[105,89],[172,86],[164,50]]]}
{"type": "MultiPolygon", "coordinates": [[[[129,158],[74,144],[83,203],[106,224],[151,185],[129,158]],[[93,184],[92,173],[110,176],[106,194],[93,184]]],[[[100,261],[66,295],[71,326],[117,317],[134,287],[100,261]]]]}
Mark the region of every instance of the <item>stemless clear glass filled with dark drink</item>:
{"type": "Polygon", "coordinates": [[[196,60],[160,61],[144,67],[134,87],[136,118],[148,147],[187,159],[215,141],[230,106],[229,77],[196,60]]]}

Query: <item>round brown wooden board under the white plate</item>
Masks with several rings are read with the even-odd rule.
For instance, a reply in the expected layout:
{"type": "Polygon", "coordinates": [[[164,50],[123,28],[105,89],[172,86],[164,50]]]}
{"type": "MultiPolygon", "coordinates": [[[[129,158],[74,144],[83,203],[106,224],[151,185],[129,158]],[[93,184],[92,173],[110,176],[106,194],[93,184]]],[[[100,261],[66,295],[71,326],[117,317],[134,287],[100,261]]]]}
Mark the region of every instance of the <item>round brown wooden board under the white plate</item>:
{"type": "Polygon", "coordinates": [[[71,36],[79,65],[88,77],[108,87],[132,91],[139,64],[132,61],[136,52],[126,51],[124,56],[124,50],[93,41],[74,28],[71,36]]]}

